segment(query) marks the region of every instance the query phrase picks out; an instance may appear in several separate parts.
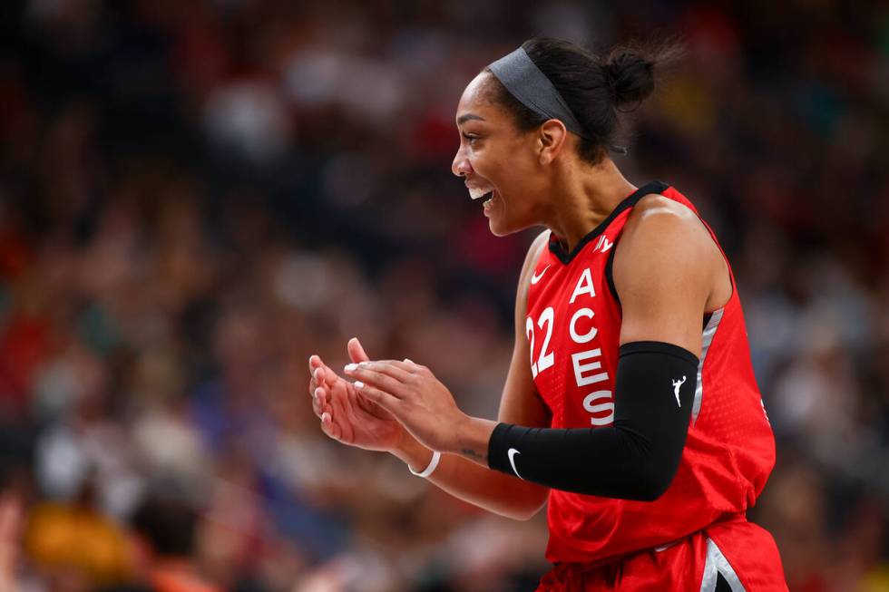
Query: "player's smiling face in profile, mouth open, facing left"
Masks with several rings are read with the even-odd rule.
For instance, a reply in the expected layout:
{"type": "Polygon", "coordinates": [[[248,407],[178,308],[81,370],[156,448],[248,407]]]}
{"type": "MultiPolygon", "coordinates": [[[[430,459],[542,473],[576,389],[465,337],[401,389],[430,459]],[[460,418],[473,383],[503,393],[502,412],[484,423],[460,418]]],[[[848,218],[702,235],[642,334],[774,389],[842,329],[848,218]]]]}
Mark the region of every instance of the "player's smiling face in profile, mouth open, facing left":
{"type": "Polygon", "coordinates": [[[484,209],[498,237],[541,224],[546,180],[534,131],[520,131],[513,116],[494,102],[492,74],[480,73],[457,105],[460,148],[451,170],[484,209]]]}

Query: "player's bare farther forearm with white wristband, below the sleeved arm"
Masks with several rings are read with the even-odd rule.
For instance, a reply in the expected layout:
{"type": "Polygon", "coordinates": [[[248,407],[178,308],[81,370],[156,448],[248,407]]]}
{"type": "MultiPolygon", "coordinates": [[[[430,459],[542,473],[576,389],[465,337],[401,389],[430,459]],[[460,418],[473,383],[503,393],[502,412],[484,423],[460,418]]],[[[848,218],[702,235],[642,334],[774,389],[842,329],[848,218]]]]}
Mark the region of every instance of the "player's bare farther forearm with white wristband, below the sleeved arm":
{"type": "MultiPolygon", "coordinates": [[[[486,454],[485,443],[482,452],[486,454]]],[[[432,451],[411,437],[392,453],[415,471],[422,471],[432,451]]],[[[486,462],[486,461],[485,461],[486,462]]],[[[542,485],[492,471],[457,454],[445,453],[435,471],[426,478],[441,490],[484,510],[512,519],[530,519],[547,499],[542,485]]]]}

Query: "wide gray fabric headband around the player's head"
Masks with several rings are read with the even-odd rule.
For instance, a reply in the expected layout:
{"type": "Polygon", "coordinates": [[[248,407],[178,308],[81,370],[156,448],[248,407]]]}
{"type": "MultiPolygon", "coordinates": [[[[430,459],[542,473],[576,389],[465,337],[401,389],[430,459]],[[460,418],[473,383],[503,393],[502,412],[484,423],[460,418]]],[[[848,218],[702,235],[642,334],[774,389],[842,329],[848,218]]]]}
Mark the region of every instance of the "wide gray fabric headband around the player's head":
{"type": "Polygon", "coordinates": [[[562,121],[568,131],[589,139],[568,103],[522,47],[491,63],[488,70],[532,112],[546,119],[562,121]]]}

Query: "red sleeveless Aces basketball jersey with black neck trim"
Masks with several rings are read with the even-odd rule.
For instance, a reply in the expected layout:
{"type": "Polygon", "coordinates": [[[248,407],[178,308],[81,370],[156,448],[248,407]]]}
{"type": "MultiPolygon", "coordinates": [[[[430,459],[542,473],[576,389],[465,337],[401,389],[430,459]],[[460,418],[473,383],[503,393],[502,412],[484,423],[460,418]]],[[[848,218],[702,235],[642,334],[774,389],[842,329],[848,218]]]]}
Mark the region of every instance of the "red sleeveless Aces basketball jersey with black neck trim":
{"type": "MultiPolygon", "coordinates": [[[[624,199],[571,254],[551,236],[534,267],[525,327],[534,383],[552,412],[553,428],[612,423],[621,312],[611,257],[633,206],[651,193],[697,213],[676,189],[650,183],[624,199]]],[[[552,562],[585,563],[664,546],[738,519],[755,503],[775,464],[775,439],[753,374],[734,277],[731,282],[728,303],[702,319],[698,387],[669,489],[651,502],[551,490],[546,556],[552,562]]]]}

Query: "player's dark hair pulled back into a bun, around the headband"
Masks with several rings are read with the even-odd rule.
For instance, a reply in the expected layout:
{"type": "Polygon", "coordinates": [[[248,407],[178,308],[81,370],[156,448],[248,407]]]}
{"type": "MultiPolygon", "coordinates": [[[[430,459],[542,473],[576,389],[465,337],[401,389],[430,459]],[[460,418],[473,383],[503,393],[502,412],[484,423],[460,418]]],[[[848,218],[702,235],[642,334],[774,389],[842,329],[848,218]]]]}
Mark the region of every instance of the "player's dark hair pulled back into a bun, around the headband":
{"type": "MultiPolygon", "coordinates": [[[[581,139],[578,151],[582,159],[592,163],[599,162],[614,144],[621,113],[635,111],[654,90],[655,69],[682,53],[678,44],[662,43],[650,48],[619,45],[599,55],[581,45],[549,37],[529,39],[522,47],[580,121],[586,137],[581,139]],[[621,109],[627,105],[630,109],[621,109]]],[[[491,80],[493,100],[513,114],[520,130],[531,131],[545,121],[495,77],[491,80]]]]}

